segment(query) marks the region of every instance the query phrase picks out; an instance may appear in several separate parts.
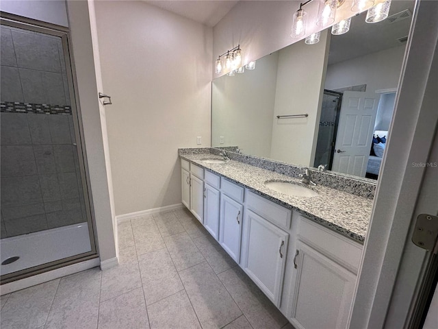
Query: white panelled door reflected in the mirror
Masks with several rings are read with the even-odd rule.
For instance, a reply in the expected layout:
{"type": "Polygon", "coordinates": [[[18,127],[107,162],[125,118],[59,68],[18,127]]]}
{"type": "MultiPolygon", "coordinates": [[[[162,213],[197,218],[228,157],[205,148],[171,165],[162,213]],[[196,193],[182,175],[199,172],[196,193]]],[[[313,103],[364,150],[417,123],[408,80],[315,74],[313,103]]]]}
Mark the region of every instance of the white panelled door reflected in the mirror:
{"type": "Polygon", "coordinates": [[[365,177],[379,98],[374,92],[344,92],[333,171],[365,177]]]}

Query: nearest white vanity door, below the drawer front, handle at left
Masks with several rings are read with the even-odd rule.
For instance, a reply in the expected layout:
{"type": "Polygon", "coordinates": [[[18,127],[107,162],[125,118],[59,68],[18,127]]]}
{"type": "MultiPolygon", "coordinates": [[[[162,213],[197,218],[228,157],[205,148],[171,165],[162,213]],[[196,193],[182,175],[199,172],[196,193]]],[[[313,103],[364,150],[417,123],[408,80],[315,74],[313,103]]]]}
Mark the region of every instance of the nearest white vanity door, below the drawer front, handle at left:
{"type": "Polygon", "coordinates": [[[302,241],[298,255],[292,312],[295,328],[346,328],[356,276],[302,241]]]}

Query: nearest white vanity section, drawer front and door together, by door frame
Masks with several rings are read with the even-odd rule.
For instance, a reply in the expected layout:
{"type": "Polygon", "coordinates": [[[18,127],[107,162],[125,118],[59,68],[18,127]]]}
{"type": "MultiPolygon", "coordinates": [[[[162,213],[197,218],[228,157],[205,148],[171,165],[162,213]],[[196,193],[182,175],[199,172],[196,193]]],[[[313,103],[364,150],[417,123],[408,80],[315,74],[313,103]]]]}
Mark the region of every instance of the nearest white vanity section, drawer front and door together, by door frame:
{"type": "Polygon", "coordinates": [[[295,328],[346,328],[361,245],[294,213],[298,232],[287,317],[295,328]]]}

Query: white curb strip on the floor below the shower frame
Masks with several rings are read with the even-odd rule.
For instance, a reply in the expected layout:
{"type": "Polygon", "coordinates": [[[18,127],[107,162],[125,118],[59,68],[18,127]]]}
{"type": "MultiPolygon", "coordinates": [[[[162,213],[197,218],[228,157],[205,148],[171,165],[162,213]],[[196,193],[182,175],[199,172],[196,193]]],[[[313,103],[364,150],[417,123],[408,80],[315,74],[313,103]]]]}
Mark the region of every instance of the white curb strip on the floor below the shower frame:
{"type": "Polygon", "coordinates": [[[35,286],[36,284],[41,284],[57,278],[62,278],[63,276],[69,276],[70,274],[85,271],[86,269],[92,269],[93,267],[99,266],[100,263],[101,261],[99,260],[99,257],[96,257],[89,260],[84,260],[81,263],[76,263],[73,265],[60,267],[59,269],[53,269],[52,271],[40,273],[36,276],[29,276],[29,278],[1,284],[1,295],[13,293],[14,291],[29,288],[35,286]]]}

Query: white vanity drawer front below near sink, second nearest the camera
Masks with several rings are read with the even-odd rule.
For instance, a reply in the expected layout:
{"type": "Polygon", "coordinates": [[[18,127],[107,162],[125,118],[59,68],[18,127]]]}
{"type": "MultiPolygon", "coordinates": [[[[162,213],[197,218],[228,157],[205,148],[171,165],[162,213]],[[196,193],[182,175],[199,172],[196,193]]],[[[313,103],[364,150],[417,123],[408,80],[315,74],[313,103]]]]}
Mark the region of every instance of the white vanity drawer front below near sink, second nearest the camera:
{"type": "Polygon", "coordinates": [[[289,230],[292,210],[280,206],[251,191],[246,191],[246,206],[279,228],[289,230]]]}

